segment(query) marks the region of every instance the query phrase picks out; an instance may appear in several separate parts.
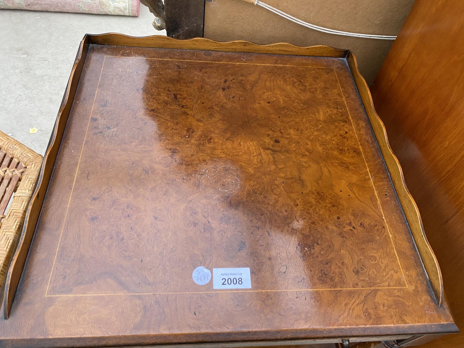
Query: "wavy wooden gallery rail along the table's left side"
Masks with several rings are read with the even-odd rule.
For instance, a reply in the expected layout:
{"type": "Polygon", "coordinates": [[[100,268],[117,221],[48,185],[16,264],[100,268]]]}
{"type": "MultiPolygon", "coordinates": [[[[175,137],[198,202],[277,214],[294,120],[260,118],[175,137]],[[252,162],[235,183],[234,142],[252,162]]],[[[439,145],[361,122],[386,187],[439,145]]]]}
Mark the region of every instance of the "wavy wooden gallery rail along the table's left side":
{"type": "Polygon", "coordinates": [[[69,77],[63,100],[58,111],[55,126],[52,130],[50,142],[48,143],[48,147],[45,152],[44,161],[42,162],[42,166],[40,168],[39,179],[37,180],[37,185],[35,187],[34,193],[32,194],[29,206],[27,207],[23,230],[13,257],[11,258],[10,268],[6,274],[2,301],[4,319],[7,319],[10,314],[14,296],[16,294],[16,290],[18,289],[19,279],[26,262],[29,247],[31,246],[32,237],[34,235],[35,227],[39,219],[39,213],[42,208],[42,203],[45,198],[45,193],[48,188],[50,177],[52,175],[52,170],[56,161],[56,156],[58,154],[59,145],[63,137],[64,127],[66,126],[72,102],[74,100],[74,95],[77,90],[77,85],[79,83],[79,78],[84,67],[84,61],[87,56],[88,47],[89,37],[88,35],[85,35],[77,51],[76,59],[71,70],[71,75],[69,77]]]}

